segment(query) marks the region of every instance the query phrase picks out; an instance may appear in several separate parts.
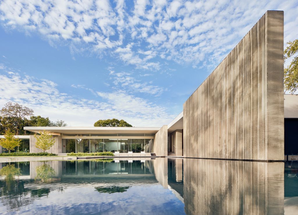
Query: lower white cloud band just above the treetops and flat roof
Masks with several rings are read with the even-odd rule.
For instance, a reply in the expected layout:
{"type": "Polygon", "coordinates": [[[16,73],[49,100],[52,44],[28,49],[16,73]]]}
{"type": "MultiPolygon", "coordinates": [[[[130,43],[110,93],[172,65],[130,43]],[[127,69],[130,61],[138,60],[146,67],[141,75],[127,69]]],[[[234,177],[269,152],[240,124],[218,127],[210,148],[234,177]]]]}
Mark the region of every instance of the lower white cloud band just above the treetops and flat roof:
{"type": "Polygon", "coordinates": [[[53,81],[21,76],[7,72],[5,66],[1,68],[0,107],[8,101],[18,102],[32,108],[35,115],[62,119],[71,126],[93,126],[97,120],[107,118],[124,119],[136,127],[162,126],[175,117],[168,114],[167,108],[124,90],[97,92],[82,85],[72,85],[97,95],[96,100],[85,99],[60,92],[53,81]]]}

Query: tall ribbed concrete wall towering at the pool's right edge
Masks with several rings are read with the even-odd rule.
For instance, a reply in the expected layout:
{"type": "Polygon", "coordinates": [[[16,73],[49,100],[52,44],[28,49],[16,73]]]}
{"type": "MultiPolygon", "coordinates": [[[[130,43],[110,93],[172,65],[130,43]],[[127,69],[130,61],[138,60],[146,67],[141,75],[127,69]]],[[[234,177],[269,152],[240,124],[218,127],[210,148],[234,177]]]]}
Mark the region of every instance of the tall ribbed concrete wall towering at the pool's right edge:
{"type": "Polygon", "coordinates": [[[283,160],[283,11],[267,11],[183,105],[184,156],[283,160]]]}

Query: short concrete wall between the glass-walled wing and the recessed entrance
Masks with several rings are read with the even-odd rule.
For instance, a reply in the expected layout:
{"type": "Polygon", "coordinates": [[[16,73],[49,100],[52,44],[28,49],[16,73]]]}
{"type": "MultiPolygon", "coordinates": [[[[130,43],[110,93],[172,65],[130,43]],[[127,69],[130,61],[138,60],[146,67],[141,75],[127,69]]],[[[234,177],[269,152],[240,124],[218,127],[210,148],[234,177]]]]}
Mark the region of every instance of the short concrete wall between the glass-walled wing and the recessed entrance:
{"type": "Polygon", "coordinates": [[[157,156],[167,156],[167,125],[162,126],[154,135],[153,152],[157,156]]]}

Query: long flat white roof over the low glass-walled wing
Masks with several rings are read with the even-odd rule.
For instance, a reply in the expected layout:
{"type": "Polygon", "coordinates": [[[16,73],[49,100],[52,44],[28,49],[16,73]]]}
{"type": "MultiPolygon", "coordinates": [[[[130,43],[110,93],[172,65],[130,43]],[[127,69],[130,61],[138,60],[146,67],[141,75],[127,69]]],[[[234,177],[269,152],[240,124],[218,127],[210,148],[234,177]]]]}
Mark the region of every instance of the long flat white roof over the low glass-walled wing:
{"type": "Polygon", "coordinates": [[[26,131],[48,131],[63,134],[155,134],[160,127],[24,127],[26,131]]]}

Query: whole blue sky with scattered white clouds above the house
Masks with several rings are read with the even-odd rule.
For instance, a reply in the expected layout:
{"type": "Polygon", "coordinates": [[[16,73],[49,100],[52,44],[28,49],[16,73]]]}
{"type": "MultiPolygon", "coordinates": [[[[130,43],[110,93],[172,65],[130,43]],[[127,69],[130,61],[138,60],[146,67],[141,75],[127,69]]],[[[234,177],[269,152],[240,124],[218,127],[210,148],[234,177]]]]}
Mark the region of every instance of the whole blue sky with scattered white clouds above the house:
{"type": "Polygon", "coordinates": [[[298,38],[297,0],[2,0],[0,107],[166,125],[266,10],[284,10],[285,42],[298,38]]]}

